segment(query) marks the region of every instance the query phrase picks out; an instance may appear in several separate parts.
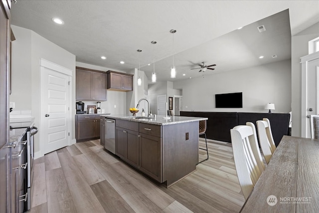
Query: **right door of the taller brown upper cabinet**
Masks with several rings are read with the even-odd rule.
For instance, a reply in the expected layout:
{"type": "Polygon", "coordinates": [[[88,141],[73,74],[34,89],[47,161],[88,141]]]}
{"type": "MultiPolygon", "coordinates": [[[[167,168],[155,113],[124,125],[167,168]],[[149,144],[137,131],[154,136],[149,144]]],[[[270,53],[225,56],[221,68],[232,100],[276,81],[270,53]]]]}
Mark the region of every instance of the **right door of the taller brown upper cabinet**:
{"type": "Polygon", "coordinates": [[[106,73],[92,72],[92,99],[106,101],[106,73]]]}

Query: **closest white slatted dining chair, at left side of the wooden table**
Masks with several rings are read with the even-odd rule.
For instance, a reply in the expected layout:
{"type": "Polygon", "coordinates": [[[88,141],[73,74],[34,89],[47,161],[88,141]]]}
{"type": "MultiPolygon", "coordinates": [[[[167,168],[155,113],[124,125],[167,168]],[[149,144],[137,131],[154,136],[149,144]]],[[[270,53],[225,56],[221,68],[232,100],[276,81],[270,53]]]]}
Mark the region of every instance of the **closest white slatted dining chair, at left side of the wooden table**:
{"type": "Polygon", "coordinates": [[[265,170],[257,143],[256,128],[253,123],[247,122],[246,125],[231,129],[230,135],[238,181],[247,200],[265,170]]]}

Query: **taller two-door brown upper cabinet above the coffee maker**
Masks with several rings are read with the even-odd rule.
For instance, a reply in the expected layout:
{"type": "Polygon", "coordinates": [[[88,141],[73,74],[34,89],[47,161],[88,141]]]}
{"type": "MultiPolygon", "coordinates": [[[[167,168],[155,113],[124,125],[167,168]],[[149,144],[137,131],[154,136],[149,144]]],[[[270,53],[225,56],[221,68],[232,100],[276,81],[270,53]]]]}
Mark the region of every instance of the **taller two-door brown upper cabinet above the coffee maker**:
{"type": "Polygon", "coordinates": [[[105,72],[76,67],[76,100],[106,101],[107,75],[105,72]]]}

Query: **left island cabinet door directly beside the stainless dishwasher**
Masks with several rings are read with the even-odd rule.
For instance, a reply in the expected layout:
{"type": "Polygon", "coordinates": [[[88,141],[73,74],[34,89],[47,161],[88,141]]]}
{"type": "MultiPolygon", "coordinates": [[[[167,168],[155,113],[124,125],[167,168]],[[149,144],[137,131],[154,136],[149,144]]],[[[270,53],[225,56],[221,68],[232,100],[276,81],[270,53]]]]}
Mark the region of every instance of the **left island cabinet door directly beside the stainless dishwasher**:
{"type": "Polygon", "coordinates": [[[120,158],[127,159],[128,133],[126,129],[115,128],[115,154],[120,158]]]}

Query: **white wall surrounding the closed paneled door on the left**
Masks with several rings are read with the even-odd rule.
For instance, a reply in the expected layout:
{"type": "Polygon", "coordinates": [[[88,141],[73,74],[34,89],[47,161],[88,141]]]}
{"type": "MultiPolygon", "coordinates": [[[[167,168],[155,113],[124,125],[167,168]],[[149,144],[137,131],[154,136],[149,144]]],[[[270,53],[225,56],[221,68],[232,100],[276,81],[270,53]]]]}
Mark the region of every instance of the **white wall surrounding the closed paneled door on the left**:
{"type": "MultiPolygon", "coordinates": [[[[32,30],[11,25],[15,36],[12,49],[12,86],[14,94],[10,102],[16,103],[16,108],[31,110],[35,118],[35,125],[39,127],[40,121],[40,59],[46,59],[59,64],[75,73],[75,55],[45,39],[32,30]],[[25,59],[23,59],[25,57],[25,59]],[[24,79],[23,76],[28,76],[24,79]],[[21,84],[20,84],[21,83],[21,84]],[[21,86],[19,86],[21,85],[21,86]],[[24,91],[25,90],[25,91],[24,91]],[[25,94],[28,93],[28,94],[25,94]],[[29,108],[30,107],[30,108],[29,108]]],[[[75,75],[72,88],[72,139],[74,135],[75,115],[75,75]],[[74,92],[73,92],[74,91],[74,92]]],[[[13,91],[12,90],[12,91],[13,91]]],[[[39,130],[41,127],[39,127],[39,130]]],[[[39,134],[35,135],[34,152],[39,151],[39,134]]]]}

